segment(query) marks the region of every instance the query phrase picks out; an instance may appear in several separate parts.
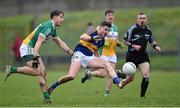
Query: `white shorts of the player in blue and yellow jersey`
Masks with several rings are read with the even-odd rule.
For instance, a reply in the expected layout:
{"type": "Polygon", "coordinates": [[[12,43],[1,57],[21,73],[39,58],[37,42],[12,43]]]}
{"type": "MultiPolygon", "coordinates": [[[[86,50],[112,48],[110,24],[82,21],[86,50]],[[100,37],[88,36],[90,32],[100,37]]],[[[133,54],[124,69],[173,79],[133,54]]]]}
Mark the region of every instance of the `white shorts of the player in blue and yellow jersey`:
{"type": "Polygon", "coordinates": [[[92,56],[86,56],[84,55],[82,52],[80,51],[77,51],[73,54],[72,58],[71,58],[71,62],[73,61],[80,61],[81,62],[81,65],[86,68],[89,61],[91,61],[92,59],[94,59],[95,56],[92,55],[92,56]]]}

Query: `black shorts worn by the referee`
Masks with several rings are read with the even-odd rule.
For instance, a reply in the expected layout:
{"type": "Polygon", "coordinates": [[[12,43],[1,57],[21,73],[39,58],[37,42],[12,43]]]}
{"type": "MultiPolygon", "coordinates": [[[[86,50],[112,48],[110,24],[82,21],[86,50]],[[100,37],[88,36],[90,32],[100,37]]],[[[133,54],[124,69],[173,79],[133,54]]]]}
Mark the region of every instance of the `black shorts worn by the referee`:
{"type": "Polygon", "coordinates": [[[133,62],[136,67],[139,66],[139,64],[144,62],[149,62],[149,56],[147,52],[127,52],[126,54],[126,62],[133,62]]]}

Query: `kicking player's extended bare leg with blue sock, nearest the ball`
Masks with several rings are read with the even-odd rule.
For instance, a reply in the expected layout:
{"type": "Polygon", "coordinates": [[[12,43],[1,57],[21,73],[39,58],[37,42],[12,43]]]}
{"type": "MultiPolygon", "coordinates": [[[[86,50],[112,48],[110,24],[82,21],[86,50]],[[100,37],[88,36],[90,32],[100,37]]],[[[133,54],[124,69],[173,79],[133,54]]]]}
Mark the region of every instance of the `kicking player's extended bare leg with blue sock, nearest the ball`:
{"type": "Polygon", "coordinates": [[[121,80],[118,78],[115,70],[111,66],[111,63],[102,60],[101,58],[95,57],[93,60],[89,61],[88,67],[90,68],[102,68],[108,72],[108,75],[113,80],[113,82],[119,87],[121,86],[121,80]]]}

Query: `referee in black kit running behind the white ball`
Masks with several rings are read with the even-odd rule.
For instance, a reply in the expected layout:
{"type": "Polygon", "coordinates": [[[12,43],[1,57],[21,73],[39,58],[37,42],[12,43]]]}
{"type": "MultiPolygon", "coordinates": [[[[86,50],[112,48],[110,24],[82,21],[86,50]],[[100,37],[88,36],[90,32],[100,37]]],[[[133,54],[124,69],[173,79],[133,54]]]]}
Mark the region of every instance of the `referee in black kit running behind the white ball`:
{"type": "MultiPolygon", "coordinates": [[[[124,36],[128,51],[126,54],[126,62],[133,62],[142,73],[141,93],[140,97],[145,97],[146,90],[149,85],[149,57],[146,52],[147,43],[149,42],[160,53],[161,48],[157,45],[152,31],[147,27],[147,16],[144,13],[137,15],[137,22],[134,24],[124,36]]],[[[129,76],[124,81],[124,86],[133,80],[134,76],[129,76]]]]}

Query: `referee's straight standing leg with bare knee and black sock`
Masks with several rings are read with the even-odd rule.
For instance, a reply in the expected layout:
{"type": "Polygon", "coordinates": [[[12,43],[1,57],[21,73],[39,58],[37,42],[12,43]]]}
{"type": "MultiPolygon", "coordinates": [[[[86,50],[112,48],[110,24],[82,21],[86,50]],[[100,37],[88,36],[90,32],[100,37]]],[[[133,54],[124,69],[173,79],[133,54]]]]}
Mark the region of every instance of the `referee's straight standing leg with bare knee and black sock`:
{"type": "Polygon", "coordinates": [[[141,82],[141,93],[140,97],[145,97],[148,85],[149,85],[149,62],[144,62],[139,64],[139,69],[142,74],[142,82],[141,82]]]}

